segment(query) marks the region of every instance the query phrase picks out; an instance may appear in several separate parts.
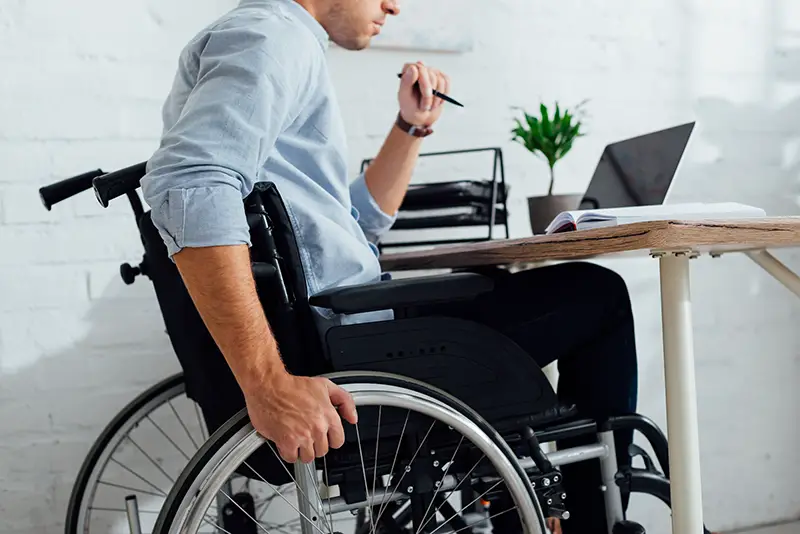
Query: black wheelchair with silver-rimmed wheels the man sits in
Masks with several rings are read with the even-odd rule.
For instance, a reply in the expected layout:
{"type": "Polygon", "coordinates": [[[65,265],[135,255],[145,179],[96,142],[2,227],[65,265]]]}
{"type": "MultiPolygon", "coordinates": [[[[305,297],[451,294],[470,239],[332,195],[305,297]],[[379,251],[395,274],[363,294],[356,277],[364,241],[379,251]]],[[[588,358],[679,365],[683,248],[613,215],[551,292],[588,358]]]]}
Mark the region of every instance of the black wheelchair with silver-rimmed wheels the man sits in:
{"type": "Polygon", "coordinates": [[[120,274],[129,284],[139,275],[153,283],[182,368],[132,401],[94,443],[73,486],[67,534],[539,534],[549,532],[549,519],[569,520],[562,468],[584,461],[599,461],[609,534],[645,532],[624,512],[634,493],[669,507],[667,441],[652,421],[581,418],[559,405],[542,370],[509,339],[470,321],[417,313],[423,304],[491,291],[490,278],[452,272],[308,295],[279,191],[260,183],[244,199],[252,268],[284,363],[294,374],[330,378],[359,412],[358,424],[345,424],[341,449],[310,464],[283,462],[250,424],[241,391],[143,209],[137,190],[145,165],[98,169],[40,190],[47,209],[92,188],[106,207],[128,197],[144,256],[120,274]],[[393,310],[394,318],[322,333],[314,308],[393,310]],[[167,415],[177,419],[181,442],[166,431],[167,415]],[[145,426],[163,438],[157,455],[132,438],[145,426]],[[641,434],[657,462],[636,445],[617,451],[617,431],[641,434]],[[575,438],[585,444],[545,451],[575,438]],[[618,468],[620,453],[641,457],[643,467],[618,468]],[[120,460],[133,454],[163,475],[161,486],[120,460]],[[168,473],[167,464],[177,468],[168,473]],[[120,474],[135,482],[119,482],[120,474]]]}

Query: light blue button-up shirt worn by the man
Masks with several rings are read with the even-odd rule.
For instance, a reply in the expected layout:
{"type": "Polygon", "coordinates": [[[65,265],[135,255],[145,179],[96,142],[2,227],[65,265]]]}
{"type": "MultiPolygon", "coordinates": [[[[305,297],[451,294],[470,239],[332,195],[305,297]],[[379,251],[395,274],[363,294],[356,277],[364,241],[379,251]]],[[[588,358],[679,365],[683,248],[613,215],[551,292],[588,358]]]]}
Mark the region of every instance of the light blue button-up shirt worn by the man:
{"type": "Polygon", "coordinates": [[[170,256],[251,245],[242,201],[271,181],[294,226],[309,295],[380,280],[375,244],[394,215],[363,175],[351,181],[327,47],[324,28],[294,0],[243,0],[188,43],[142,179],[170,256]]]}

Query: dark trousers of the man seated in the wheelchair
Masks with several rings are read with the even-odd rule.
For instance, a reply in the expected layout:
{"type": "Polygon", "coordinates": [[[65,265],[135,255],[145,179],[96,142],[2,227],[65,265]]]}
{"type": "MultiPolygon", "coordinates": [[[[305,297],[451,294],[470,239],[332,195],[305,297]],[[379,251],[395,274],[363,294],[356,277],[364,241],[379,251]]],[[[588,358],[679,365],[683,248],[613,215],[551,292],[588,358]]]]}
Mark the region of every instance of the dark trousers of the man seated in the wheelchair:
{"type": "MultiPolygon", "coordinates": [[[[581,417],[602,421],[635,411],[633,315],[620,276],[595,264],[574,262],[513,274],[499,269],[485,273],[496,279],[493,292],[469,303],[431,306],[426,313],[486,324],[515,341],[542,367],[558,361],[559,400],[574,404],[581,417]]],[[[632,432],[615,434],[619,467],[630,465],[632,438],[632,432]]],[[[594,441],[589,436],[557,446],[563,449],[594,441]]],[[[605,534],[599,461],[561,469],[570,511],[570,519],[562,521],[564,532],[605,534]]],[[[500,532],[519,531],[510,527],[504,525],[500,532]]]]}

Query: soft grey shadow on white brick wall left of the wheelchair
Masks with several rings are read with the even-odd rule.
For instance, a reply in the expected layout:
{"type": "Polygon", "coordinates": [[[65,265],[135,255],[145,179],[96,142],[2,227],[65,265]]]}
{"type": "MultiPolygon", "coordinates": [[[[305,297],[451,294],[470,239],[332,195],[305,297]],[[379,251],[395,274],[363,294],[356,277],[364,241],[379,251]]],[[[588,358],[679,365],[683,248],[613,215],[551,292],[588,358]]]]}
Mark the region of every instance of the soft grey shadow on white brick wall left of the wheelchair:
{"type": "Polygon", "coordinates": [[[109,284],[90,303],[83,315],[88,332],[73,346],[0,378],[0,531],[63,532],[91,444],[137,395],[180,370],[155,294],[125,298],[120,288],[109,284]]]}

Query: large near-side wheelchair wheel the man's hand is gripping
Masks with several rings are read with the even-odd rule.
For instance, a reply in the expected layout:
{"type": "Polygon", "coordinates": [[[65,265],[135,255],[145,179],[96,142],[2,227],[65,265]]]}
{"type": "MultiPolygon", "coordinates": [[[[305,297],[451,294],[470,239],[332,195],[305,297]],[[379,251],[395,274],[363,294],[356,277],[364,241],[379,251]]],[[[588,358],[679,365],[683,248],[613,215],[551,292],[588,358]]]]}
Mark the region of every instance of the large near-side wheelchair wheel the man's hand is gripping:
{"type": "Polygon", "coordinates": [[[488,532],[501,515],[516,517],[519,532],[546,532],[533,487],[516,456],[463,403],[394,375],[338,373],[329,378],[350,392],[359,410],[358,424],[345,424],[341,449],[313,464],[285,464],[242,411],[186,466],[153,532],[194,533],[202,527],[231,534],[350,534],[358,527],[354,515],[359,510],[365,511],[369,533],[478,534],[488,532]],[[224,485],[241,474],[270,487],[294,488],[292,498],[278,489],[278,499],[273,499],[271,522],[283,528],[264,529],[252,507],[238,505],[249,528],[230,531],[214,522],[210,507],[220,499],[236,504],[224,485]],[[464,495],[475,498],[464,502],[464,495]],[[507,508],[489,508],[498,496],[507,508]],[[486,513],[475,514],[479,508],[486,513]]]}

